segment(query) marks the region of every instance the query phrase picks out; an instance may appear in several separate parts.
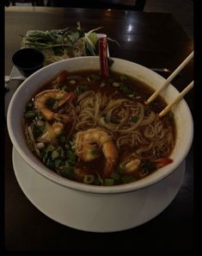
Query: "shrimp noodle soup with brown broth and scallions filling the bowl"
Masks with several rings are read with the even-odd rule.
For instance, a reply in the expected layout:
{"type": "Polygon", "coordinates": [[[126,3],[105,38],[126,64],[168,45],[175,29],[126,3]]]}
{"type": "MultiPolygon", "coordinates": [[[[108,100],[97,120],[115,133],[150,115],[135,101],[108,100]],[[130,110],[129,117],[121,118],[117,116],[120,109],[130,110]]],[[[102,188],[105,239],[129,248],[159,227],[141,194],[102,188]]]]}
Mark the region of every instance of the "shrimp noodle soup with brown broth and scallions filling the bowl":
{"type": "Polygon", "coordinates": [[[146,84],[111,72],[62,71],[42,85],[25,109],[29,149],[58,175],[84,184],[136,181],[172,162],[172,112],[146,84]]]}

